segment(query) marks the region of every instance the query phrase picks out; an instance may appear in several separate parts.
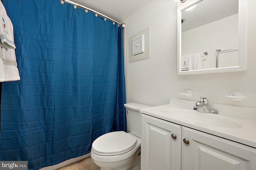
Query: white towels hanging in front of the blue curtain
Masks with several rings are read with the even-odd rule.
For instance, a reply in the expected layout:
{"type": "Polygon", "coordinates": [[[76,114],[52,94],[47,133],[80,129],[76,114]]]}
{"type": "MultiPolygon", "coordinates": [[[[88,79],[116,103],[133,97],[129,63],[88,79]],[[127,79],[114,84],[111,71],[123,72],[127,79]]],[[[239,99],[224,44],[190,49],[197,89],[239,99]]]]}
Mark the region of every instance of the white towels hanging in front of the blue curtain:
{"type": "Polygon", "coordinates": [[[13,26],[0,2],[0,82],[20,80],[16,63],[13,26]]]}

